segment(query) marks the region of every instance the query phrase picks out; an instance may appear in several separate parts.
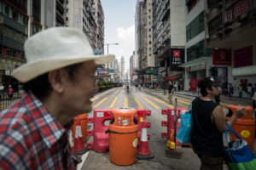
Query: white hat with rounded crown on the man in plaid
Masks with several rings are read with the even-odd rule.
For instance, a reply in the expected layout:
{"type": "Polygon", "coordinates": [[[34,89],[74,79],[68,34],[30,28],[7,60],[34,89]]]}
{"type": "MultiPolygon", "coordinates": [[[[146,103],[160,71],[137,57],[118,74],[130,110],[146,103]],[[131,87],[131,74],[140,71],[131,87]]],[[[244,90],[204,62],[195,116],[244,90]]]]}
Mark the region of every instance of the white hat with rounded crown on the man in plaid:
{"type": "Polygon", "coordinates": [[[12,76],[28,82],[46,72],[94,59],[96,64],[110,63],[113,54],[95,55],[83,31],[71,27],[53,27],[27,39],[26,61],[12,76]]]}

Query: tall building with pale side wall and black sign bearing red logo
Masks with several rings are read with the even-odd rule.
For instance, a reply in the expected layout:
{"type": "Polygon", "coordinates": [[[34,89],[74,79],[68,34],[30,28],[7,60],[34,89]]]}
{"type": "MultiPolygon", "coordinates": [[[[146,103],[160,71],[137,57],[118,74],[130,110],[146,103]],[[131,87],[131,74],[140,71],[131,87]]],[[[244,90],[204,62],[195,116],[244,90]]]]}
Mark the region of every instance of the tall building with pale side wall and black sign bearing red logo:
{"type": "Polygon", "coordinates": [[[153,1],[153,53],[160,61],[163,81],[183,84],[185,48],[185,1],[153,1]]]}

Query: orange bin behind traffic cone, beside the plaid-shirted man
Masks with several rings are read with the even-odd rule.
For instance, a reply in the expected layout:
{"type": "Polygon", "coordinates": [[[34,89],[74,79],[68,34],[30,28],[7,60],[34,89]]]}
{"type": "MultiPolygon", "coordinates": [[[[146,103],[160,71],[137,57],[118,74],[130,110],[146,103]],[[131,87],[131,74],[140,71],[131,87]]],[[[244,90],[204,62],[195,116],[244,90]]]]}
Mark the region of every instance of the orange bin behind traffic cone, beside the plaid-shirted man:
{"type": "Polygon", "coordinates": [[[73,141],[75,141],[75,133],[76,133],[76,124],[77,124],[77,119],[80,119],[80,123],[81,123],[81,129],[82,129],[82,141],[83,143],[86,142],[86,133],[87,133],[87,113],[79,115],[79,116],[75,116],[73,118],[73,126],[72,126],[72,137],[73,137],[73,141]]]}

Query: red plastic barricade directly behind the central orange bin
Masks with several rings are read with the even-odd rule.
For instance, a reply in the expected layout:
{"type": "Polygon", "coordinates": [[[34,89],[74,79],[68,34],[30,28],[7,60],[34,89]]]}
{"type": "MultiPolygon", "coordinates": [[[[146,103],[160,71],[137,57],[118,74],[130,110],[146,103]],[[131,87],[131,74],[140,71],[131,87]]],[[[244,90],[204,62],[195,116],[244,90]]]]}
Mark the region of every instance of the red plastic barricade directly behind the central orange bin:
{"type": "MultiPolygon", "coordinates": [[[[87,129],[87,136],[93,137],[92,142],[87,142],[86,148],[96,150],[97,152],[106,152],[109,148],[109,133],[105,133],[108,129],[108,125],[105,125],[104,122],[112,121],[113,115],[110,113],[112,109],[95,109],[94,116],[88,117],[88,123],[93,124],[93,129],[87,129]]],[[[136,109],[137,115],[134,119],[138,124],[138,141],[140,141],[140,135],[143,127],[143,122],[146,121],[146,116],[151,116],[150,110],[145,109],[136,109]]],[[[150,122],[146,122],[147,127],[151,127],[150,122]]],[[[150,134],[148,133],[148,140],[150,140],[150,134]]],[[[139,142],[138,142],[139,144],[139,142]]]]}

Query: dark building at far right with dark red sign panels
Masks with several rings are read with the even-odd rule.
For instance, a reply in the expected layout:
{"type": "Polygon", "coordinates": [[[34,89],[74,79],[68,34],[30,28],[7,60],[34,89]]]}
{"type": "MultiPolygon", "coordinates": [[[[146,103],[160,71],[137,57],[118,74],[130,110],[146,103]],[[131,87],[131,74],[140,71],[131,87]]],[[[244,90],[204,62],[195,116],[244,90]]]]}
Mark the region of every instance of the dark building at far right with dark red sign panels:
{"type": "Polygon", "coordinates": [[[205,1],[206,44],[214,48],[214,71],[233,84],[235,95],[239,84],[246,89],[249,82],[256,83],[255,4],[255,0],[205,1]]]}

